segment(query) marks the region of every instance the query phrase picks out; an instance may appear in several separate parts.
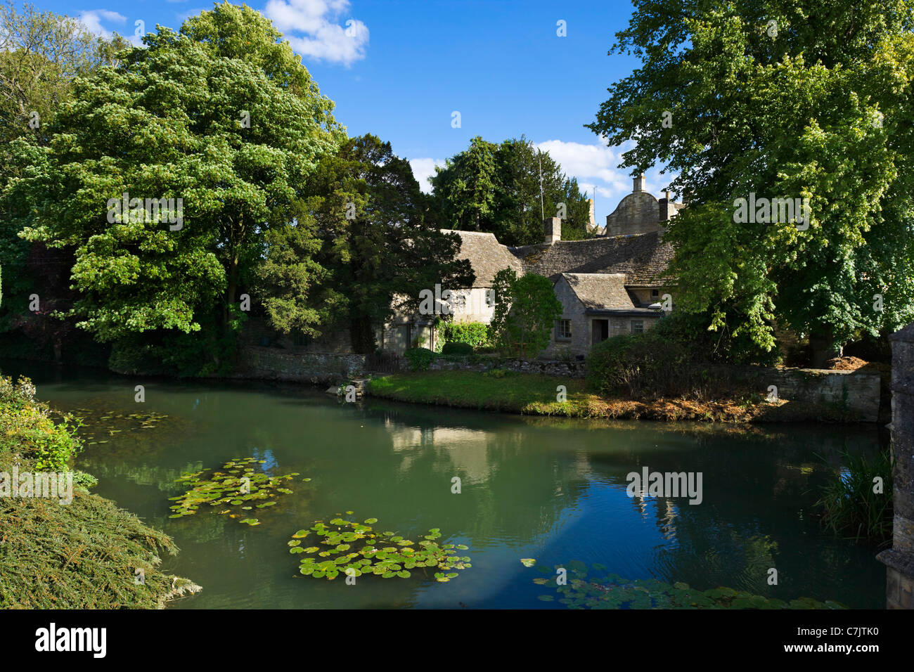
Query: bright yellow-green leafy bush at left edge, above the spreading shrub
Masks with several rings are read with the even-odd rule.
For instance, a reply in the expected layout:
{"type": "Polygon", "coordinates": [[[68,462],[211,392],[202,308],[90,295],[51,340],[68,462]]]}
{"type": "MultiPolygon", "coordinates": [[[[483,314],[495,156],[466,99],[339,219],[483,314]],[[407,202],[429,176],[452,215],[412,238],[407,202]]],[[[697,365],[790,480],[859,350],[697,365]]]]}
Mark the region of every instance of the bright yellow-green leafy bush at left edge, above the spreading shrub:
{"type": "Polygon", "coordinates": [[[0,376],[0,454],[17,454],[38,471],[69,471],[80,452],[79,421],[70,415],[55,423],[48,405],[35,400],[35,385],[27,378],[0,376]]]}

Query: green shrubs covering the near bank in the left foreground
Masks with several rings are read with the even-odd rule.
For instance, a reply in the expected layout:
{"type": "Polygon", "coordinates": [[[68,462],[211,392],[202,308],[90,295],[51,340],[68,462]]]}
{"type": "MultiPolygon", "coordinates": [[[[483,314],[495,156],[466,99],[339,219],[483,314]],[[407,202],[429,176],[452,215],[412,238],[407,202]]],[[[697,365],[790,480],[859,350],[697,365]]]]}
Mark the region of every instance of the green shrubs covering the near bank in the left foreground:
{"type": "Polygon", "coordinates": [[[199,590],[158,569],[177,552],[170,537],[89,492],[94,479],[69,467],[75,428],[53,421],[34,391],[0,377],[0,608],[161,608],[199,590]],[[57,496],[16,496],[38,473],[55,475],[57,496]]]}

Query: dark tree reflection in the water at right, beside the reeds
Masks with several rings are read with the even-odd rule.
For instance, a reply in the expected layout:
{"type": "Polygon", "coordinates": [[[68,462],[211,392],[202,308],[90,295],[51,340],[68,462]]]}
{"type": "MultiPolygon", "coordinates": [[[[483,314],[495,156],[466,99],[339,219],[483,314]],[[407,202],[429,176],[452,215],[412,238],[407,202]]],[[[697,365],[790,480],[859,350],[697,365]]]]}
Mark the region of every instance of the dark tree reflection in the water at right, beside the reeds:
{"type": "Polygon", "coordinates": [[[710,441],[702,451],[651,458],[652,471],[702,472],[704,490],[696,506],[685,498],[632,498],[639,512],[645,506],[653,512],[670,541],[657,549],[656,578],[784,598],[812,593],[821,573],[859,565],[860,554],[824,536],[813,503],[829,475],[828,464],[840,462],[845,450],[877,450],[877,432],[817,429],[813,442],[807,428],[796,430],[779,433],[773,444],[710,441]],[[768,445],[772,450],[765,450],[768,445]],[[812,543],[817,538],[821,541],[812,543]],[[770,568],[779,571],[778,586],[768,584],[770,568]]]}

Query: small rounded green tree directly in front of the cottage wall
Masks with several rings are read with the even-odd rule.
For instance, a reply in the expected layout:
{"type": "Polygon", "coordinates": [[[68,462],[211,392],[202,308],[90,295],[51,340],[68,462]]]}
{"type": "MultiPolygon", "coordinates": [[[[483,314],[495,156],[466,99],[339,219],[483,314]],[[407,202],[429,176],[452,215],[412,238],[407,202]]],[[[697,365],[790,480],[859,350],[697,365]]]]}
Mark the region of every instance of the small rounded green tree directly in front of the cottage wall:
{"type": "Polygon", "coordinates": [[[517,277],[511,269],[495,273],[495,310],[489,340],[495,347],[520,357],[536,357],[546,349],[562,314],[548,278],[536,273],[517,277]]]}

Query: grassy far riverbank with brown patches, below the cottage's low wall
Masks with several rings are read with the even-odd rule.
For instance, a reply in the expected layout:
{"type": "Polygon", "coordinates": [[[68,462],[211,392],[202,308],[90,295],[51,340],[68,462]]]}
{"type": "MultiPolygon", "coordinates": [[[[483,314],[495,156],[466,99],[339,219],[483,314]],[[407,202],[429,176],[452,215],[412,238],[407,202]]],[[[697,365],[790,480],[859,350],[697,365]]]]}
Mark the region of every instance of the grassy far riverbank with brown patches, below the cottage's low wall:
{"type": "Polygon", "coordinates": [[[631,400],[594,394],[581,379],[514,372],[398,373],[372,379],[368,392],[375,397],[412,403],[573,418],[716,422],[846,420],[835,409],[786,400],[769,402],[761,395],[737,400],[631,400]],[[567,390],[564,401],[557,400],[560,385],[567,390]]]}

